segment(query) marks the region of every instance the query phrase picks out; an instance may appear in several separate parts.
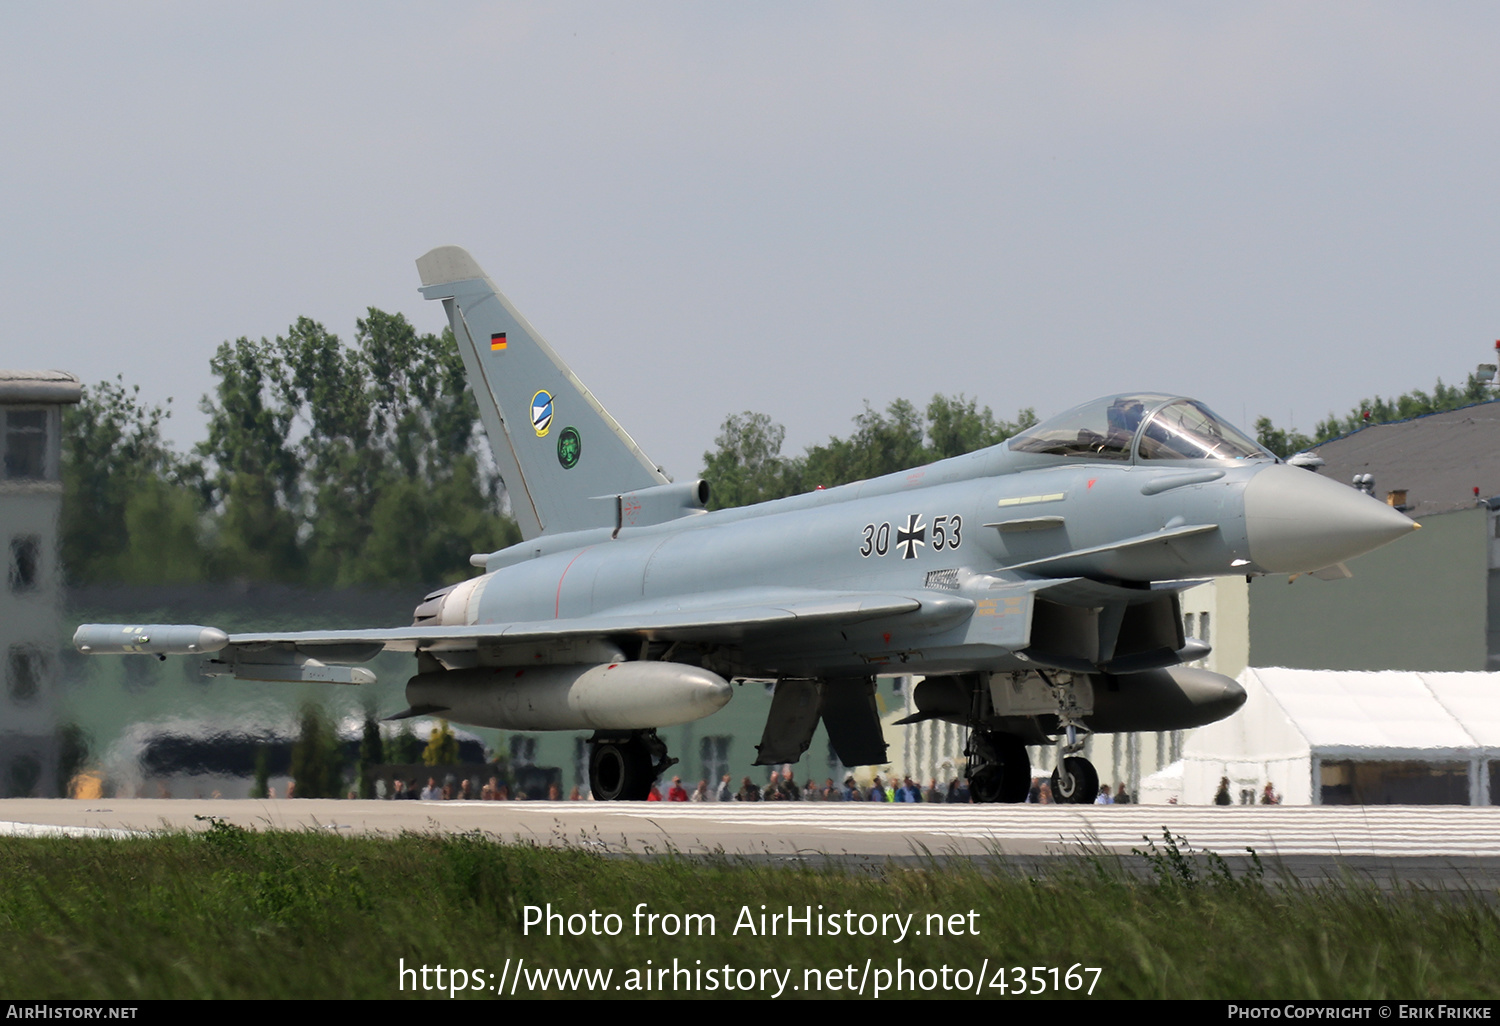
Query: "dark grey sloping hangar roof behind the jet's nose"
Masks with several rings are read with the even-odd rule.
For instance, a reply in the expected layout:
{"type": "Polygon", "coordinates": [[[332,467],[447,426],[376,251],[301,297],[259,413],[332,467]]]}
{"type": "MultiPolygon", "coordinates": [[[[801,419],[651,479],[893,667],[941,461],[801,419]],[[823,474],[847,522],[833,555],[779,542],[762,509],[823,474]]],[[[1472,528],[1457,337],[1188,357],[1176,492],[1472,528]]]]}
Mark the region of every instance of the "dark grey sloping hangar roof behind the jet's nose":
{"type": "Polygon", "coordinates": [[[1407,490],[1412,516],[1449,513],[1500,495],[1500,400],[1371,424],[1314,447],[1318,472],[1348,484],[1354,474],[1376,478],[1376,498],[1407,490]]]}

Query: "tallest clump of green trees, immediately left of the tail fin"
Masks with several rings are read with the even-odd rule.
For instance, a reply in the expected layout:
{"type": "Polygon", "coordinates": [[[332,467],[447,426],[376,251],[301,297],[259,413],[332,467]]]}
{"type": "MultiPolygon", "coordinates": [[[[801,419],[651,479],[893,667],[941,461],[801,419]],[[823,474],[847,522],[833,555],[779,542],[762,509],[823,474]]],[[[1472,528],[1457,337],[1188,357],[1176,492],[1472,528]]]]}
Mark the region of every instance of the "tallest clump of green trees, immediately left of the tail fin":
{"type": "Polygon", "coordinates": [[[220,348],[204,456],[231,574],[312,585],[438,584],[519,542],[480,470],[478,411],[450,333],[370,309],[356,345],[300,318],[220,348]],[[351,558],[354,556],[354,558],[351,558]]]}

